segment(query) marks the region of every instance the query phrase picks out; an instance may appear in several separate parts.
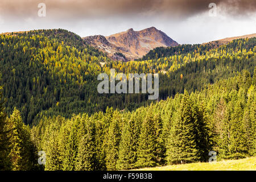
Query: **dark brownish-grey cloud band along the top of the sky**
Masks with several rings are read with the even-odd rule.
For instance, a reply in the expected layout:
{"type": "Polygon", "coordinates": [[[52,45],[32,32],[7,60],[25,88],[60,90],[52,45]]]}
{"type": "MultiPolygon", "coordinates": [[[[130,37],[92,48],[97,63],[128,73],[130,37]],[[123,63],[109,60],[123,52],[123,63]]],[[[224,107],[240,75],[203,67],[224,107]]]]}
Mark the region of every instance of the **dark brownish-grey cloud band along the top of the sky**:
{"type": "Polygon", "coordinates": [[[186,18],[209,10],[212,2],[222,14],[250,15],[256,11],[254,0],[1,0],[0,15],[16,18],[36,16],[40,2],[46,3],[47,16],[53,19],[120,15],[186,18]]]}

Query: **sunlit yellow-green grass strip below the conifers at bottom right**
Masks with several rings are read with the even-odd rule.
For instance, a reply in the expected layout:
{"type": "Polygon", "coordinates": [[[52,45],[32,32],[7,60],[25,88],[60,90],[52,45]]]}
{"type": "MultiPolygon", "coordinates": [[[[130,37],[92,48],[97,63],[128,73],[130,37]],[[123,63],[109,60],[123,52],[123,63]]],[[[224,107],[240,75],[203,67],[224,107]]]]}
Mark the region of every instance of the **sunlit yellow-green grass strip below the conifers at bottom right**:
{"type": "Polygon", "coordinates": [[[142,171],[256,171],[256,158],[138,169],[142,171]]]}

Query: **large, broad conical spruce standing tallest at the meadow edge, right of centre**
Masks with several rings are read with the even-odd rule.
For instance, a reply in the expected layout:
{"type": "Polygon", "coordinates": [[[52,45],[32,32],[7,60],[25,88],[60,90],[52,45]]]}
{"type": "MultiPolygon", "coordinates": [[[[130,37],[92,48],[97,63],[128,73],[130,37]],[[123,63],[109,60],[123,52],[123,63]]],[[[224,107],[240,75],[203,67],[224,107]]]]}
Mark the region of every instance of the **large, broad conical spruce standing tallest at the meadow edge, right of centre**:
{"type": "Polygon", "coordinates": [[[167,160],[170,163],[192,163],[200,160],[192,103],[185,90],[180,109],[168,137],[167,160]]]}

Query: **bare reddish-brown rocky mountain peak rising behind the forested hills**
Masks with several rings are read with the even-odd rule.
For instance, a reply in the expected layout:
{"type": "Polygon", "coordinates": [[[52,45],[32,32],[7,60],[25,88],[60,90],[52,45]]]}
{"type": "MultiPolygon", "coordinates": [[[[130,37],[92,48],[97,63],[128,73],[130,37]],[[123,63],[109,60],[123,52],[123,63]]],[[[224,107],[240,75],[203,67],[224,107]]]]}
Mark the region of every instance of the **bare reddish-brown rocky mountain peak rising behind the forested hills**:
{"type": "Polygon", "coordinates": [[[113,59],[119,59],[117,53],[122,53],[125,60],[142,57],[156,47],[178,46],[179,44],[155,27],[134,31],[133,28],[110,36],[94,35],[84,38],[90,46],[97,47],[108,53],[113,59]]]}

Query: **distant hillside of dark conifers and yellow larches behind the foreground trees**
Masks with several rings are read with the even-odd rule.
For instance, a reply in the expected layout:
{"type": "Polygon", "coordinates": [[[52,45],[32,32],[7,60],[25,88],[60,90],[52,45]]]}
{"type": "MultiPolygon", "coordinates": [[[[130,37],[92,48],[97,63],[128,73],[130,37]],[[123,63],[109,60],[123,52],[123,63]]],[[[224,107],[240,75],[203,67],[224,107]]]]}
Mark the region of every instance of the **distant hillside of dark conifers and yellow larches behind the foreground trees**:
{"type": "MultiPolygon", "coordinates": [[[[155,49],[147,60],[112,61],[77,35],[65,30],[39,30],[0,36],[0,85],[7,114],[20,110],[23,122],[36,124],[46,115],[71,118],[114,109],[147,106],[147,94],[98,94],[97,75],[110,68],[123,73],[160,73],[159,100],[201,90],[246,69],[253,76],[255,38],[228,45],[155,49]],[[158,56],[156,56],[156,54],[158,56]],[[102,64],[105,63],[105,64],[102,64]]],[[[147,56],[146,56],[147,57],[147,56]]]]}

